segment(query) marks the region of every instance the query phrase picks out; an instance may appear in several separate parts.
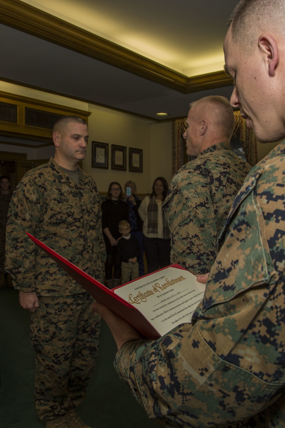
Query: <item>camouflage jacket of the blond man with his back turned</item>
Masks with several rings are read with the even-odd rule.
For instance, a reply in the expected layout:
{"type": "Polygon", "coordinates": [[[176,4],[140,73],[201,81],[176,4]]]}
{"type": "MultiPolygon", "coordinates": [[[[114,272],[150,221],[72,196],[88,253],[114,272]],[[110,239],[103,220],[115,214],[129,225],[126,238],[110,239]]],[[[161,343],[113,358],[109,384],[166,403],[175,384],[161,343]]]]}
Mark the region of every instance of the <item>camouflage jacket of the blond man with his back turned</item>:
{"type": "Polygon", "coordinates": [[[171,263],[196,274],[209,272],[217,238],[249,170],[229,143],[217,143],[176,172],[163,204],[171,263]]]}

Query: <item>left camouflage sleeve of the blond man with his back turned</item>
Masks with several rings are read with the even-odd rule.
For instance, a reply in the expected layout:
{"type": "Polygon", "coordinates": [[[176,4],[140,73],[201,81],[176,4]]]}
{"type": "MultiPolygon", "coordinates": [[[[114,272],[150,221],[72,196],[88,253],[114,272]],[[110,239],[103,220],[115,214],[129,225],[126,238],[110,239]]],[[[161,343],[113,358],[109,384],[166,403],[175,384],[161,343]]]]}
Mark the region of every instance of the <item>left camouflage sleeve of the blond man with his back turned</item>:
{"type": "Polygon", "coordinates": [[[164,202],[171,232],[171,263],[196,274],[209,272],[215,258],[217,225],[209,185],[211,174],[201,165],[180,170],[164,202]]]}

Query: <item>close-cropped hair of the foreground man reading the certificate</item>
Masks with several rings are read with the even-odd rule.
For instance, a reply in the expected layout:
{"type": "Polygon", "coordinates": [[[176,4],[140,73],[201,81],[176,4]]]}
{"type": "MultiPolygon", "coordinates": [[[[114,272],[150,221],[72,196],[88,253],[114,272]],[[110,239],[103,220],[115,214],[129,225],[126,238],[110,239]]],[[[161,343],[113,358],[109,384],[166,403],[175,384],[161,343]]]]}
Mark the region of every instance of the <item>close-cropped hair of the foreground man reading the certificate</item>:
{"type": "Polygon", "coordinates": [[[284,0],[241,0],[229,18],[232,40],[247,47],[250,53],[258,30],[284,34],[284,0]]]}

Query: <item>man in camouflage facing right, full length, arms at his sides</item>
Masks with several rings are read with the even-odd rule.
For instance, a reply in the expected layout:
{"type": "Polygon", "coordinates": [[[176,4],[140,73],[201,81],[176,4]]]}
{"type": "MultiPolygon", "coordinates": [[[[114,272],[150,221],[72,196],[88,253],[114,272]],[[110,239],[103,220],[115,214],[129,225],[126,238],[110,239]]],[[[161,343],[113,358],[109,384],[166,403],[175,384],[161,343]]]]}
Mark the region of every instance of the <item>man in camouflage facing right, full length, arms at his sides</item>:
{"type": "MultiPolygon", "coordinates": [[[[72,119],[65,126],[59,132],[67,129],[75,142],[70,147],[62,137],[61,158],[77,156],[77,165],[85,157],[87,127],[72,119]]],[[[61,418],[81,403],[98,351],[100,318],[91,310],[93,299],[25,233],[103,281],[100,196],[89,175],[78,168],[77,185],[72,172],[76,174],[67,173],[53,158],[27,172],[13,193],[7,223],[6,270],[24,297],[33,291],[38,297],[39,306],[31,310],[30,339],[36,352],[37,412],[47,420],[61,418]]]]}

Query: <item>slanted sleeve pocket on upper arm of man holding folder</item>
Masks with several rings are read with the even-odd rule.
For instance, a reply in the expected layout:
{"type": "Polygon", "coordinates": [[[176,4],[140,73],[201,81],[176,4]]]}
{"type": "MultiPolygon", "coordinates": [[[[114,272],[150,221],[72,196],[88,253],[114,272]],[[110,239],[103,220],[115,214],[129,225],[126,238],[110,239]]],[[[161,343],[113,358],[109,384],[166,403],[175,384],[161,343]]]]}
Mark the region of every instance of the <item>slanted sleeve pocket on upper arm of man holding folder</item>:
{"type": "Polygon", "coordinates": [[[230,218],[229,232],[208,277],[203,311],[231,302],[242,292],[274,282],[264,219],[252,189],[230,218]]]}

